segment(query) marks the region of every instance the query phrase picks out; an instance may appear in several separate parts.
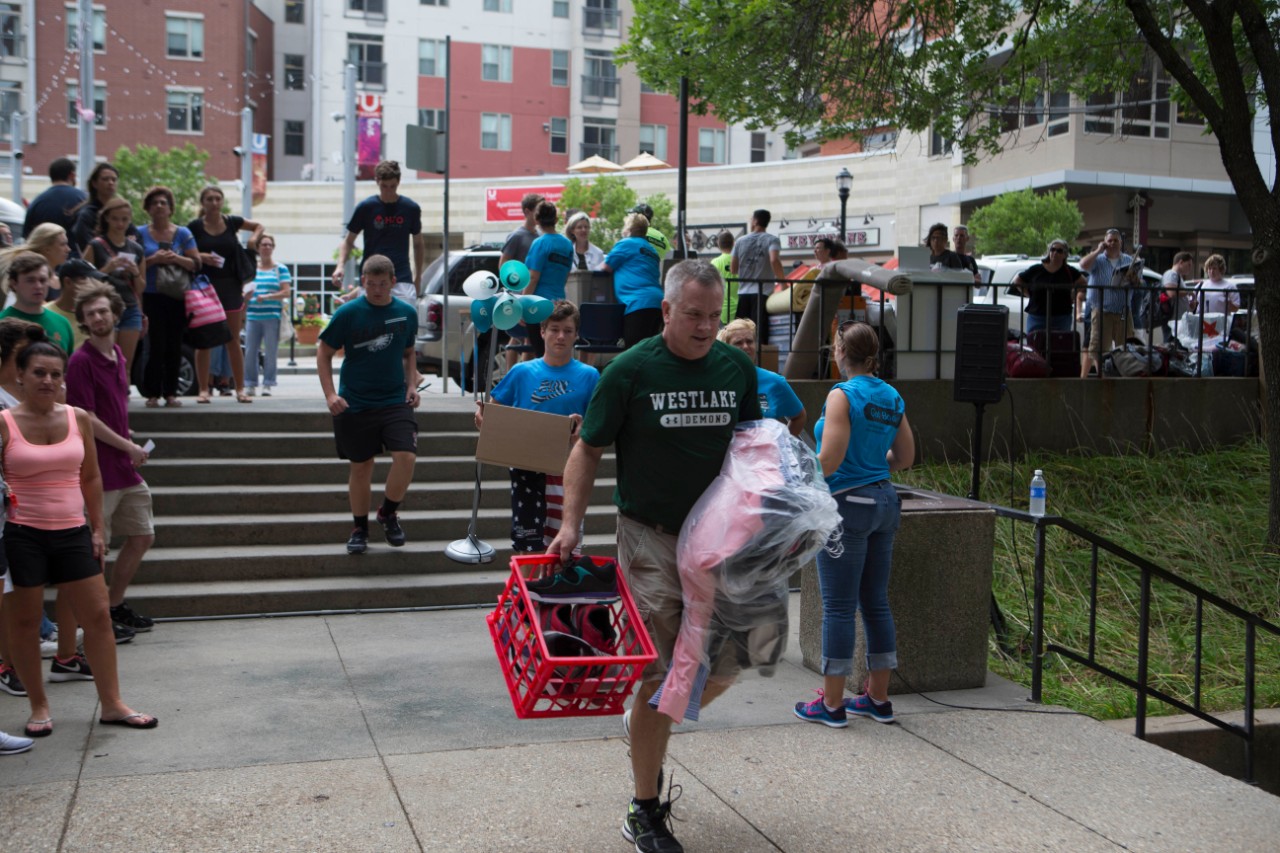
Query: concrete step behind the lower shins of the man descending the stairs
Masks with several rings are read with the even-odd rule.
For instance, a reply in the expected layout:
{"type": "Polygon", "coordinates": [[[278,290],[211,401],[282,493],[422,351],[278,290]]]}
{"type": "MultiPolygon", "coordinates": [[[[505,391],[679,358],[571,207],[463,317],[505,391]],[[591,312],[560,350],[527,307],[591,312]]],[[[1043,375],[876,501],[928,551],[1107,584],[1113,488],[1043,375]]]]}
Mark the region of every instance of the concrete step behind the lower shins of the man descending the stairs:
{"type": "MultiPolygon", "coordinates": [[[[150,462],[147,464],[150,469],[150,462]]],[[[475,469],[471,469],[475,476],[475,469]]],[[[511,506],[511,480],[506,471],[484,466],[484,479],[480,483],[480,506],[498,508],[511,506]]],[[[143,471],[150,474],[148,470],[143,471]]],[[[346,483],[292,483],[278,485],[155,485],[151,484],[151,500],[156,521],[164,516],[191,515],[200,510],[205,515],[255,514],[265,519],[279,512],[337,512],[349,511],[346,483]]],[[[595,480],[591,492],[591,506],[609,506],[613,498],[614,480],[602,476],[595,480]]],[[[466,510],[471,511],[475,480],[442,480],[413,483],[404,501],[410,510],[466,510]]],[[[381,487],[374,492],[381,500],[381,487]]]]}

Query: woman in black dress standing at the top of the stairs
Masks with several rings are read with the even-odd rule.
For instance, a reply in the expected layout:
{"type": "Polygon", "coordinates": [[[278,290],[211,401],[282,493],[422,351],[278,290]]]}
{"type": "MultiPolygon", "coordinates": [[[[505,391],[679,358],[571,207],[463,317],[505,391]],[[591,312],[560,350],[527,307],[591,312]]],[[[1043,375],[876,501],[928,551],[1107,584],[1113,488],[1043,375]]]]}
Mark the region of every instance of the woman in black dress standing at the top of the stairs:
{"type": "MultiPolygon", "coordinates": [[[[204,273],[209,277],[218,298],[227,311],[227,325],[232,330],[232,341],[227,345],[227,355],[232,362],[232,378],[236,382],[236,400],[253,402],[244,393],[244,353],[239,348],[241,329],[244,328],[244,282],[239,278],[236,257],[241,251],[237,232],[248,231],[256,241],[262,234],[262,225],[241,216],[223,214],[223,191],[218,187],[205,187],[200,191],[198,219],[192,219],[187,228],[196,238],[204,273]]],[[[250,270],[252,274],[253,270],[250,270]]],[[[252,280],[252,279],[251,279],[252,280]]],[[[200,380],[200,396],[196,402],[210,401],[209,350],[196,350],[196,378],[200,380]]]]}

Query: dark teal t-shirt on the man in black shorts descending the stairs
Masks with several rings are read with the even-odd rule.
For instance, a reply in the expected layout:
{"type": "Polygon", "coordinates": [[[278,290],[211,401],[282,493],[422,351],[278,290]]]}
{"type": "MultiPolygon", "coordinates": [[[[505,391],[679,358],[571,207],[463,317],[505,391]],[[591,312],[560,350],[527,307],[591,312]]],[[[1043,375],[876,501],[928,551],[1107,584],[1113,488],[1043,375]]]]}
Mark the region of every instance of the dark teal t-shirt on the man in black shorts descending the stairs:
{"type": "Polygon", "coordinates": [[[417,338],[417,311],[407,302],[374,305],[352,300],[334,311],[320,339],[343,351],[338,396],[348,411],[404,402],[404,350],[417,338]]]}

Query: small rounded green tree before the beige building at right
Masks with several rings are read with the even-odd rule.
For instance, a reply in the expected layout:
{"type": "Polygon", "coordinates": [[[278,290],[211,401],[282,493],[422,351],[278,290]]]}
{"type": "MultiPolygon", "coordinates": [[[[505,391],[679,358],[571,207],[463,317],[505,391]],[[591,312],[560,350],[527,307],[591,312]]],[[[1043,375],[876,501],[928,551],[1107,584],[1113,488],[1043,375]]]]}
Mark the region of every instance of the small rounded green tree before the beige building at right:
{"type": "Polygon", "coordinates": [[[969,218],[969,233],[983,255],[1038,256],[1052,240],[1068,246],[1084,228],[1084,214],[1066,197],[1066,190],[1037,195],[1032,190],[1006,192],[969,218]]]}

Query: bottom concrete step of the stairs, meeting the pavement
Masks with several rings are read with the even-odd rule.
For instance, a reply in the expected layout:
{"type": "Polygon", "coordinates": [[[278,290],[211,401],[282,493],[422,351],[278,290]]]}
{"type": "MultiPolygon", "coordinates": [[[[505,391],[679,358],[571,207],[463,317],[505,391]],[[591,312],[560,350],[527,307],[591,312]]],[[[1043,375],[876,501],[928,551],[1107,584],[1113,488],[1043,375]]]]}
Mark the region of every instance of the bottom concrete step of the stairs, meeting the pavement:
{"type": "MultiPolygon", "coordinates": [[[[399,569],[396,562],[420,562],[424,552],[415,549],[415,543],[394,553],[385,544],[375,544],[369,553],[355,557],[335,553],[340,551],[340,544],[329,546],[329,556],[312,557],[320,565],[339,564],[344,567],[344,571],[329,574],[279,578],[244,578],[237,574],[169,580],[145,578],[154,573],[143,564],[137,581],[129,587],[129,603],[154,617],[484,605],[495,601],[509,576],[511,551],[498,548],[497,542],[489,542],[498,548],[493,562],[470,567],[443,556],[448,543],[421,543],[445,561],[438,571],[424,571],[420,565],[415,565],[413,571],[396,571],[399,569]],[[352,571],[352,566],[357,571],[352,571]]],[[[614,556],[613,535],[588,537],[585,549],[591,555],[614,556]]]]}

